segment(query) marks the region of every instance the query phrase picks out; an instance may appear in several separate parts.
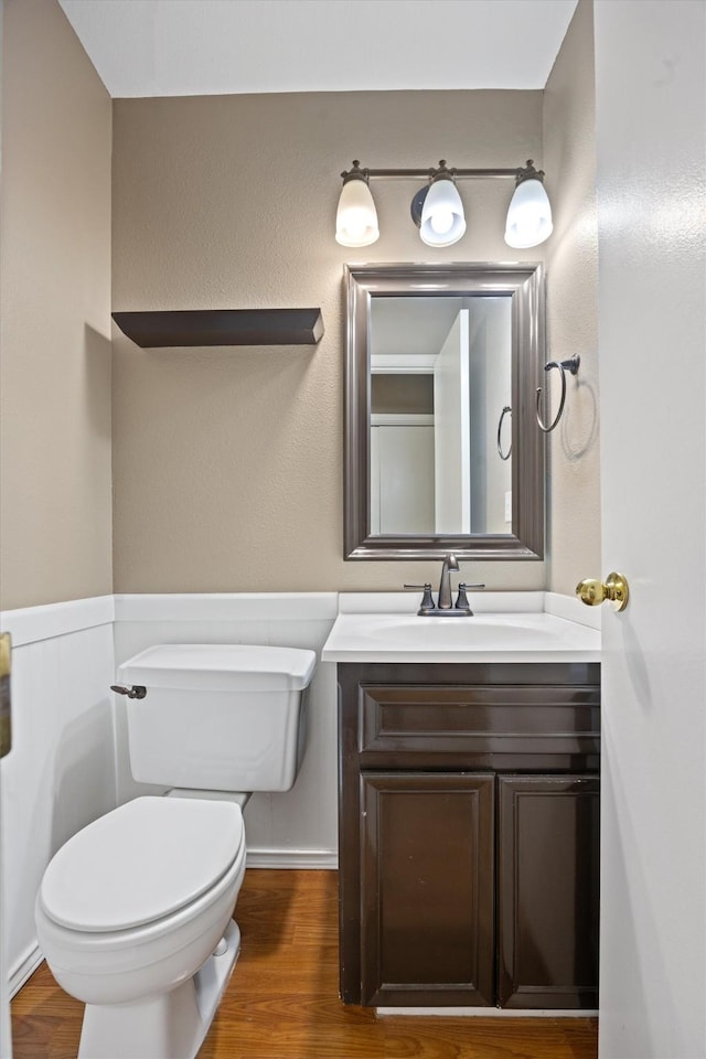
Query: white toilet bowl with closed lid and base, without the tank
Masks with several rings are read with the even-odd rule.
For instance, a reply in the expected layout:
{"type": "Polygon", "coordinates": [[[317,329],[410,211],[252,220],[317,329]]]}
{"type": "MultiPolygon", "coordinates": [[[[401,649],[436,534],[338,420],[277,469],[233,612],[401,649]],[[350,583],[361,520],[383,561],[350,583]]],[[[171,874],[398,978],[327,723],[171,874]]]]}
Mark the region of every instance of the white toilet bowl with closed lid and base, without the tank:
{"type": "Polygon", "coordinates": [[[244,874],[225,801],[138,798],[60,849],[35,918],[54,977],[87,1005],[82,1059],[195,1055],[237,959],[244,874]]]}

